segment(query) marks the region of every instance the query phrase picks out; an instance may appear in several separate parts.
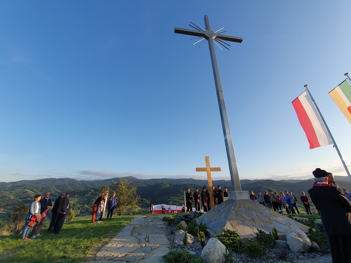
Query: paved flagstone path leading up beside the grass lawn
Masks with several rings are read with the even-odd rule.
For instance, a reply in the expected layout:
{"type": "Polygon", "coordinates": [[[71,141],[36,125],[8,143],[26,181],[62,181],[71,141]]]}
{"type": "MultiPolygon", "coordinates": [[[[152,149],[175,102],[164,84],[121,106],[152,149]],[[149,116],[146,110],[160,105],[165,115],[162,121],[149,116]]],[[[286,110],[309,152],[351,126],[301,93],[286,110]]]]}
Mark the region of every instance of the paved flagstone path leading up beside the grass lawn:
{"type": "Polygon", "coordinates": [[[96,261],[164,263],[170,243],[162,216],[136,217],[96,254],[96,261]]]}

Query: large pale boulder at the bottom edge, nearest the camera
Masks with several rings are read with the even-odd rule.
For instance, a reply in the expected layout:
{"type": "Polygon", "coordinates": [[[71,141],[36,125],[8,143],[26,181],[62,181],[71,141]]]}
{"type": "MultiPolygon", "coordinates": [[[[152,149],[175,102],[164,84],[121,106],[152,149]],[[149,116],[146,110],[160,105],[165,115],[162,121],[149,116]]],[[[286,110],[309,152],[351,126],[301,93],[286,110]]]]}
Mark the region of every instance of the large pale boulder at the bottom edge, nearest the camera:
{"type": "Polygon", "coordinates": [[[200,257],[206,263],[224,263],[225,253],[225,246],[217,238],[210,238],[210,240],[207,241],[206,246],[202,249],[200,257]]]}

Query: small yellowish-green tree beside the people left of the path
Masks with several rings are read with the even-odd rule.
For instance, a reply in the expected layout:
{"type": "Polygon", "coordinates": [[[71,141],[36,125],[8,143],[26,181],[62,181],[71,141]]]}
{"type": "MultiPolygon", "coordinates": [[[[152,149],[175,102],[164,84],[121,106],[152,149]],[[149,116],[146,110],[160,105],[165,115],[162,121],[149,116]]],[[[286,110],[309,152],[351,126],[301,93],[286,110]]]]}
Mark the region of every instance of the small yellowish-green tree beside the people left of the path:
{"type": "Polygon", "coordinates": [[[131,186],[130,181],[120,178],[120,182],[111,182],[113,190],[116,192],[117,198],[117,214],[122,215],[128,210],[136,208],[140,200],[140,196],[136,194],[136,187],[131,186]]]}

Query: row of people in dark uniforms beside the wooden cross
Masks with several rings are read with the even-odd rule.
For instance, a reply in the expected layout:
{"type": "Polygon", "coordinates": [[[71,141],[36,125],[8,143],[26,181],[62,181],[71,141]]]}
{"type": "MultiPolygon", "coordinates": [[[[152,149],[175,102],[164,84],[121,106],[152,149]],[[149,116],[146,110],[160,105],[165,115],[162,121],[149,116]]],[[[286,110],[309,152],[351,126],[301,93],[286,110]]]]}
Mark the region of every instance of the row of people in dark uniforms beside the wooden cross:
{"type": "MultiPolygon", "coordinates": [[[[228,197],[228,189],[225,187],[224,191],[218,185],[218,188],[212,186],[212,198],[214,200],[214,205],[217,206],[224,201],[225,197],[228,197]]],[[[195,189],[195,192],[191,193],[190,188],[186,189],[185,200],[186,200],[186,212],[192,212],[192,205],[196,211],[200,211],[203,207],[204,212],[207,212],[211,209],[210,202],[210,191],[206,186],[202,188],[202,191],[199,192],[199,188],[195,189]]],[[[185,208],[184,208],[185,209],[185,208]]]]}

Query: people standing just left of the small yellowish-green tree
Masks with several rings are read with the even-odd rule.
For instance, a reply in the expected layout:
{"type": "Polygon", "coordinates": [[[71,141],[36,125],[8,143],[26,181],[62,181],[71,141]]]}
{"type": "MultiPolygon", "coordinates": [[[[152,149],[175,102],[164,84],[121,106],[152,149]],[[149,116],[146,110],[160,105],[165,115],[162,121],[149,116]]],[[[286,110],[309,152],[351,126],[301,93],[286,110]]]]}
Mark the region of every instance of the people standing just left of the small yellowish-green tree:
{"type": "MultiPolygon", "coordinates": [[[[105,210],[105,200],[107,196],[108,195],[106,193],[102,193],[93,204],[92,223],[95,224],[95,223],[103,222],[102,216],[105,210]]],[[[107,220],[112,220],[112,214],[113,214],[114,208],[117,207],[116,193],[112,193],[112,195],[108,199],[107,207],[108,207],[107,220]]]]}

